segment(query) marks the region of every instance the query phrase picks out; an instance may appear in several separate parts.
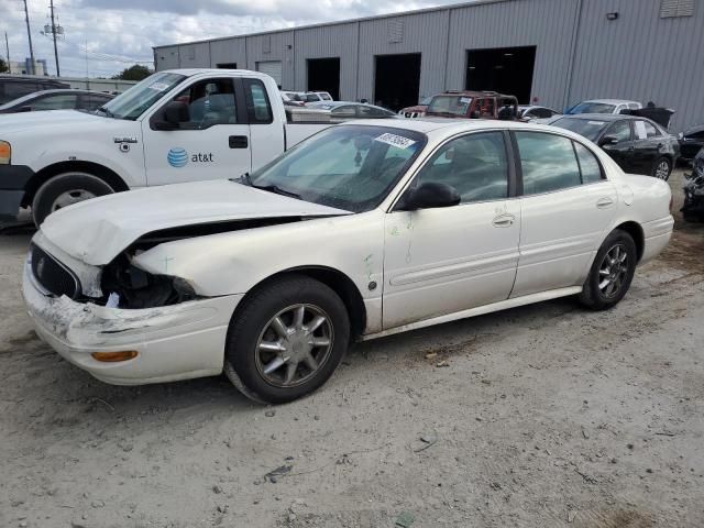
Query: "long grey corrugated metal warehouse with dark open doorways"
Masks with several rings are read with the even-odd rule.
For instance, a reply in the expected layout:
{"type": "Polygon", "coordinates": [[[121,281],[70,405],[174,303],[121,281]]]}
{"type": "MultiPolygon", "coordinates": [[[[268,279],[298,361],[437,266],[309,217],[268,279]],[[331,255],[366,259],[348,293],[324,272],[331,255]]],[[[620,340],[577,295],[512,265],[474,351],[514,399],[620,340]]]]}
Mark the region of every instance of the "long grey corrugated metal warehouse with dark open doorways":
{"type": "Polygon", "coordinates": [[[674,132],[704,121],[703,0],[476,0],[157,46],[154,61],[265,72],[284,89],[394,109],[471,88],[558,110],[652,100],[676,110],[674,132]]]}

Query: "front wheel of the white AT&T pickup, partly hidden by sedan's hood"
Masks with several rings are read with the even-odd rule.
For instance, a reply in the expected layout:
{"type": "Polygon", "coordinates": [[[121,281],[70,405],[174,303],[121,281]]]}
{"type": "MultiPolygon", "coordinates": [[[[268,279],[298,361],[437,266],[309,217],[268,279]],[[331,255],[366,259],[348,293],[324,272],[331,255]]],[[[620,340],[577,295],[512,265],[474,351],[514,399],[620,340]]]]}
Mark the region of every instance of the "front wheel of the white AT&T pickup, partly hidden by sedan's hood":
{"type": "Polygon", "coordinates": [[[64,173],[40,187],[32,201],[32,216],[38,228],[52,212],[64,207],[113,193],[112,187],[87,173],[64,173]]]}

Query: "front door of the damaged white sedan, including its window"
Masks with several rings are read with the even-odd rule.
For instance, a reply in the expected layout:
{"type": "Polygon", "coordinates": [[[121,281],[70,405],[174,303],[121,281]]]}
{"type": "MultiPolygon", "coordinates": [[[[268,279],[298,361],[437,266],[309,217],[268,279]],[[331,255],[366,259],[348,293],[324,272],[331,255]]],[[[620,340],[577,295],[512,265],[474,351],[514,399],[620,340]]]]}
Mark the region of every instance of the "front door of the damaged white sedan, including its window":
{"type": "Polygon", "coordinates": [[[504,132],[448,141],[411,188],[426,182],[454,187],[462,200],[386,216],[385,329],[505,300],[514,284],[520,204],[509,198],[504,132]]]}

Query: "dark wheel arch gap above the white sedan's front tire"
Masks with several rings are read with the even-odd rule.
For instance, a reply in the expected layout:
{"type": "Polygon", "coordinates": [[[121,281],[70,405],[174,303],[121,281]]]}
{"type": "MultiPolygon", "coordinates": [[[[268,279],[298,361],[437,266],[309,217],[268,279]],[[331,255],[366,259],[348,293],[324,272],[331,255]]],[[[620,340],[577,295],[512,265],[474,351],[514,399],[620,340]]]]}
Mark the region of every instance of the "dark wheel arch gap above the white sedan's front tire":
{"type": "Polygon", "coordinates": [[[321,265],[290,267],[263,278],[250,288],[242,301],[238,305],[238,308],[235,308],[233,318],[237,317],[238,310],[244,305],[243,301],[252,295],[253,292],[257,290],[271,280],[285,277],[286,275],[305,275],[328,286],[340,296],[340,299],[342,299],[342,302],[348,310],[350,316],[351,340],[355,340],[364,332],[364,329],[366,328],[366,307],[364,306],[364,300],[359,288],[354,282],[341,271],[321,265]]]}

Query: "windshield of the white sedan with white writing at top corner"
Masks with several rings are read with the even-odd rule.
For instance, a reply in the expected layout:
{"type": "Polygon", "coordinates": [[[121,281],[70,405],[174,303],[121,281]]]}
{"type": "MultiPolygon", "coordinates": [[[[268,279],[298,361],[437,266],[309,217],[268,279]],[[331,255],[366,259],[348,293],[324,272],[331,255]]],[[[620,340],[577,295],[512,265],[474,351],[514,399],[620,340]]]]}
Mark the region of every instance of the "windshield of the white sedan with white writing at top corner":
{"type": "Polygon", "coordinates": [[[255,187],[353,212],[374,209],[427,142],[386,127],[332,127],[296,145],[250,177],[255,187]]]}

